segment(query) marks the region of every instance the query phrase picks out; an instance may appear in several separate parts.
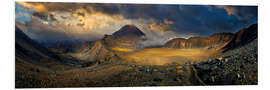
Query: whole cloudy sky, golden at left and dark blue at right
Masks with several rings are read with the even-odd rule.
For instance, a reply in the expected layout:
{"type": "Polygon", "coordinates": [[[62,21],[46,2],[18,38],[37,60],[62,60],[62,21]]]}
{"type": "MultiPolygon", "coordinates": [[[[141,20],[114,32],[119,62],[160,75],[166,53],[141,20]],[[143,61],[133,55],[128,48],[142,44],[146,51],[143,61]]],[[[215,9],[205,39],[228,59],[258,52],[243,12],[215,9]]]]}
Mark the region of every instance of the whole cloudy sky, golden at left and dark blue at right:
{"type": "Polygon", "coordinates": [[[256,6],[16,2],[15,14],[34,40],[97,40],[131,24],[149,45],[237,32],[258,20],[256,6]]]}

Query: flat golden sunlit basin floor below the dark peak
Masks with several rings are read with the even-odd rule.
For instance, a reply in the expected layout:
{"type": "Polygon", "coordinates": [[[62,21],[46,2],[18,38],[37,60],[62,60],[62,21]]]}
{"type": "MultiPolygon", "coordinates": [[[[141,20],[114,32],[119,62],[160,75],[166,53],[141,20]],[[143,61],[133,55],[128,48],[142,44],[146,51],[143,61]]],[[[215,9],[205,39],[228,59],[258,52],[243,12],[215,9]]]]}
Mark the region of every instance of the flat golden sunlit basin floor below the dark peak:
{"type": "Polygon", "coordinates": [[[142,65],[165,65],[170,63],[195,63],[206,61],[218,55],[214,49],[192,48],[192,49],[172,49],[172,48],[146,48],[123,55],[124,60],[136,62],[142,65]]]}

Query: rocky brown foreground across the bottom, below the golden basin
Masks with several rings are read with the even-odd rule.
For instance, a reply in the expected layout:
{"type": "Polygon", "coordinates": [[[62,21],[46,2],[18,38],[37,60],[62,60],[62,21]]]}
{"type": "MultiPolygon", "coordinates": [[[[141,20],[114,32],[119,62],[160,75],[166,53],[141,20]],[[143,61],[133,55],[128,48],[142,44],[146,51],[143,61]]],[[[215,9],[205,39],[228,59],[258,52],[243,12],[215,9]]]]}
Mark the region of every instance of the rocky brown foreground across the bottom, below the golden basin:
{"type": "Polygon", "coordinates": [[[43,77],[38,77],[35,83],[25,80],[16,87],[257,85],[257,45],[257,40],[254,40],[220,57],[194,64],[147,66],[127,62],[102,63],[64,72],[38,73],[43,77]]]}

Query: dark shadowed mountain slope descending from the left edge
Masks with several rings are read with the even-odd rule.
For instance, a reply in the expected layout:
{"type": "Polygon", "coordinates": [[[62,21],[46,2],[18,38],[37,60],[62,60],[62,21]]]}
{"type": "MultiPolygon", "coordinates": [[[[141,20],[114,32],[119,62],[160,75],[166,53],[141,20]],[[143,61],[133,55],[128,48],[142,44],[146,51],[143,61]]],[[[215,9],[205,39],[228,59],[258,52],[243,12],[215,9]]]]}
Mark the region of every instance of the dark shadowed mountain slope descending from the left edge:
{"type": "Polygon", "coordinates": [[[57,65],[70,66],[78,64],[77,60],[66,59],[38,42],[29,38],[21,28],[15,26],[15,59],[18,62],[28,62],[44,67],[57,67],[57,65]]]}

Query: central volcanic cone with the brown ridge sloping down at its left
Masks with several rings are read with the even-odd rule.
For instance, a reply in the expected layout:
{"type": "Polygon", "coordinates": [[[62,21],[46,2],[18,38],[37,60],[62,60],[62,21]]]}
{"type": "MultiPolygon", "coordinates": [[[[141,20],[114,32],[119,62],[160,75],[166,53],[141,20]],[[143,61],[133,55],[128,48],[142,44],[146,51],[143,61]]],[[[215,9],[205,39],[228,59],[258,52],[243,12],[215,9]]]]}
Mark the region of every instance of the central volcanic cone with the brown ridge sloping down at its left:
{"type": "Polygon", "coordinates": [[[72,56],[90,62],[110,60],[117,57],[113,48],[130,50],[142,48],[139,41],[144,39],[144,35],[137,27],[126,25],[113,35],[104,35],[102,39],[92,42],[72,56]]]}

